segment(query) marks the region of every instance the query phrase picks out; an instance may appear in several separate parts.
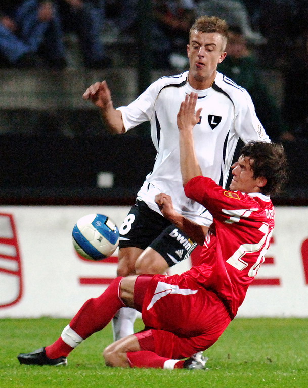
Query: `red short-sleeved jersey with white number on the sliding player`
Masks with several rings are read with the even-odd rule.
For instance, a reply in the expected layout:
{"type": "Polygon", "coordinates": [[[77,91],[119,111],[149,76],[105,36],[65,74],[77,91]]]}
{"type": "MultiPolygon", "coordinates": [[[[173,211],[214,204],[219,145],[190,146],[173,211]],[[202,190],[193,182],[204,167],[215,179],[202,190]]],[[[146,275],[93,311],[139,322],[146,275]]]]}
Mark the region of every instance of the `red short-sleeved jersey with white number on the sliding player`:
{"type": "Polygon", "coordinates": [[[203,176],[191,179],[185,193],[209,210],[214,220],[200,265],[182,276],[216,292],[234,318],[270,245],[272,201],[261,193],[227,191],[203,176]]]}

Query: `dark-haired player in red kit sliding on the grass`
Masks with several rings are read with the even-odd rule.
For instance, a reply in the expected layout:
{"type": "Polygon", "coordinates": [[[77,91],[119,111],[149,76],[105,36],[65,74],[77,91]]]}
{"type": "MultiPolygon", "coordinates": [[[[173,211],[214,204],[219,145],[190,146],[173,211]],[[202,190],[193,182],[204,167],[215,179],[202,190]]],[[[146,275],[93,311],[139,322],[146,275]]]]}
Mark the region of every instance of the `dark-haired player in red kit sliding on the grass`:
{"type": "MultiPolygon", "coordinates": [[[[174,210],[171,198],[161,193],[156,203],[175,228],[203,245],[200,261],[181,275],[118,277],[98,298],[84,303],[58,340],[18,356],[22,364],[61,365],[85,338],[103,329],[123,306],[142,312],[145,330],[109,345],[106,365],[114,367],[205,367],[198,353],[224,332],[242,304],[247,288],[264,261],[274,228],[269,197],[286,178],[286,160],[279,144],[251,142],[233,165],[230,190],[202,176],[194,146],[193,128],[198,95],[188,94],[177,122],[180,165],[186,196],[213,215],[207,228],[174,210]],[[183,360],[186,358],[186,360],[183,360]]],[[[181,238],[181,236],[179,236],[181,238]]]]}

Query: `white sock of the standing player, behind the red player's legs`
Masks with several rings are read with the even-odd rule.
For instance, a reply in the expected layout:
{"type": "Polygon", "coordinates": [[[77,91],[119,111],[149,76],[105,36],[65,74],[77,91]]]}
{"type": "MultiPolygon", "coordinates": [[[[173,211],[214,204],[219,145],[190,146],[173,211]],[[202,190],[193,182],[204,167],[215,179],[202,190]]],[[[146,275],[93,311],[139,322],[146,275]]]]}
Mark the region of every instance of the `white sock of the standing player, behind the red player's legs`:
{"type": "Polygon", "coordinates": [[[137,311],[130,307],[122,307],[112,319],[113,341],[134,334],[134,323],[137,311]]]}

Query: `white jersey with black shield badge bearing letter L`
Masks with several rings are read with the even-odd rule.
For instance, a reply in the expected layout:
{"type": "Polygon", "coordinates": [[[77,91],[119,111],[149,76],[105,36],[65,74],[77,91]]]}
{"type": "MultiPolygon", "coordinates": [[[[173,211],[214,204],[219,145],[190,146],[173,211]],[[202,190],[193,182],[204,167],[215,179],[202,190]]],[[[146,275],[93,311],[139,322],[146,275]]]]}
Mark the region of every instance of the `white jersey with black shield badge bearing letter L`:
{"type": "Polygon", "coordinates": [[[212,86],[195,90],[188,83],[188,71],[162,77],[152,83],[122,112],[125,130],[151,122],[151,137],[157,150],[152,172],[137,198],[160,213],[154,199],[164,192],[171,196],[174,209],[198,224],[209,226],[210,213],[185,196],[180,171],[177,114],[185,95],[198,93],[196,110],[202,107],[200,122],[194,127],[197,158],[203,175],[225,187],[239,138],[270,141],[258,120],[247,91],[218,73],[212,86]]]}

